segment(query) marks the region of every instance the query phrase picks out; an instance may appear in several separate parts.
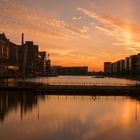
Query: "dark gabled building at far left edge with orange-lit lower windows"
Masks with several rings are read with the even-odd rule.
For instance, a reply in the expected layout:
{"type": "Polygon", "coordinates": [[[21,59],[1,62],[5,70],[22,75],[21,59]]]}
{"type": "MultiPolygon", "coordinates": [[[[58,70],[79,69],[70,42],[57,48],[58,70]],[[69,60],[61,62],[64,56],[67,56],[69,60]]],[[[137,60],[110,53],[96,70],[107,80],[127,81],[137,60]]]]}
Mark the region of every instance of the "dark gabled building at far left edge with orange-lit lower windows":
{"type": "Polygon", "coordinates": [[[15,75],[18,71],[19,46],[0,34],[0,76],[15,75]]]}

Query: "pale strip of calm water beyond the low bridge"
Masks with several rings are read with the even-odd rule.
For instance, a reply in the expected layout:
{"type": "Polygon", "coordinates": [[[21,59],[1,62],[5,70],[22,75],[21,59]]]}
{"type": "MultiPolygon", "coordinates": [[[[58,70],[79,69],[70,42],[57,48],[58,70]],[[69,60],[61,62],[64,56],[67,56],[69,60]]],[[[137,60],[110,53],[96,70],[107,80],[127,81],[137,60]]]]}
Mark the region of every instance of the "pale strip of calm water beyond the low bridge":
{"type": "Polygon", "coordinates": [[[51,85],[62,84],[91,84],[91,85],[134,85],[140,84],[139,81],[119,79],[119,78],[95,78],[93,76],[59,76],[59,77],[41,77],[27,79],[28,82],[38,82],[51,85]]]}

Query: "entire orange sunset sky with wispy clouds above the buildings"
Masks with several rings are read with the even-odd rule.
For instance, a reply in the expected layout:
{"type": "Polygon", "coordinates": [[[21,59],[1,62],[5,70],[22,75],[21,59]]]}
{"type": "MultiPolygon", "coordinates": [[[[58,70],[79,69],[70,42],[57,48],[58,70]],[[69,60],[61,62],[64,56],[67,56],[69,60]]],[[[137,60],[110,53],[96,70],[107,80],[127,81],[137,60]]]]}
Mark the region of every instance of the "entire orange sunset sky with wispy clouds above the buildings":
{"type": "Polygon", "coordinates": [[[17,44],[21,33],[53,65],[102,70],[140,52],[140,0],[0,0],[0,33],[17,44]]]}

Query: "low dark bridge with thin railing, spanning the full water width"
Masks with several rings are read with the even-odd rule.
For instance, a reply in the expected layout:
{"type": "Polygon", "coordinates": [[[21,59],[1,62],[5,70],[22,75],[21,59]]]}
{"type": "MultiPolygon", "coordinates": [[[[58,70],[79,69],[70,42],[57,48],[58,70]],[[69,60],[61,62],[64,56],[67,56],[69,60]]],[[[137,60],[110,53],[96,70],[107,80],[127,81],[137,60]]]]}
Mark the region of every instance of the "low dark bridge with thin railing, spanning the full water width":
{"type": "Polygon", "coordinates": [[[33,82],[7,83],[0,90],[8,92],[25,91],[48,95],[140,95],[140,85],[135,84],[89,84],[89,83],[55,83],[42,84],[33,82]]]}

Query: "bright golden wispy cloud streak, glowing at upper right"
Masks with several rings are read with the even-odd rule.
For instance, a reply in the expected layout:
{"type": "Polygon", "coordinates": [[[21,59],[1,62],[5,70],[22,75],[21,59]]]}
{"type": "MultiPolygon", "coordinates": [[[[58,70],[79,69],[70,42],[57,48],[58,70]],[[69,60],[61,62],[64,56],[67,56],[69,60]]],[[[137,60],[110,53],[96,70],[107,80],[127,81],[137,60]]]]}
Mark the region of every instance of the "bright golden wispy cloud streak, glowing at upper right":
{"type": "Polygon", "coordinates": [[[83,8],[78,8],[77,10],[100,22],[101,25],[94,25],[95,28],[107,35],[116,37],[119,41],[118,44],[129,46],[128,49],[130,49],[130,46],[132,46],[133,49],[140,48],[140,38],[138,38],[138,34],[140,34],[139,25],[111,16],[100,15],[83,8]]]}

